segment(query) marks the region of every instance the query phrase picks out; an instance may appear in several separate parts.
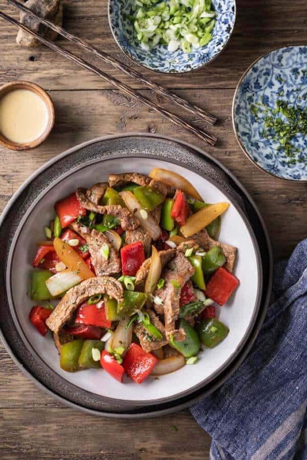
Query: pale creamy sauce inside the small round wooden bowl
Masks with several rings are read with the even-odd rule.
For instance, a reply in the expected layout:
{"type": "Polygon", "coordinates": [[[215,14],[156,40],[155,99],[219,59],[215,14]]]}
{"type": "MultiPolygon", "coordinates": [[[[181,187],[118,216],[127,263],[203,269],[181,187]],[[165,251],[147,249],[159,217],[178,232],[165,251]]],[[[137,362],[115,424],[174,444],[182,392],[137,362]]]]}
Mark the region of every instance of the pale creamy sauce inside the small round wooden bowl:
{"type": "Polygon", "coordinates": [[[34,91],[14,89],[0,99],[0,131],[9,141],[35,141],[47,123],[47,105],[34,91]]]}

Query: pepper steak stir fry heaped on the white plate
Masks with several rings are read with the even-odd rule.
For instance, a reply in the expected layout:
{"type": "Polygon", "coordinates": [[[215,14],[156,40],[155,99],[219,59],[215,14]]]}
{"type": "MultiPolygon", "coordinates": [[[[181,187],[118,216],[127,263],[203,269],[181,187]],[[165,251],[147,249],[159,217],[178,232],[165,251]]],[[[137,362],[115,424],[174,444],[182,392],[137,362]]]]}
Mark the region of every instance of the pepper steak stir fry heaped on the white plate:
{"type": "Polygon", "coordinates": [[[214,302],[239,283],[237,249],[217,241],[228,206],[159,168],[111,174],[56,202],[33,260],[30,320],[52,331],[61,368],[141,383],[224,340],[214,302]]]}

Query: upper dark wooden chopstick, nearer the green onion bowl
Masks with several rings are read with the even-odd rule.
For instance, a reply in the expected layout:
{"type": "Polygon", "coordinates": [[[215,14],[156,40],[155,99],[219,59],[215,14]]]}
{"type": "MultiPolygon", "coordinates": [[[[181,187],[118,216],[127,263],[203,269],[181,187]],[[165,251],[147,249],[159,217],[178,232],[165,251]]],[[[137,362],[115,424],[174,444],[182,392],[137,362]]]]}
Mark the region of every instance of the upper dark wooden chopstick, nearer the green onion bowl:
{"type": "Polygon", "coordinates": [[[97,48],[93,47],[90,43],[87,43],[86,41],[82,40],[81,38],[76,37],[75,35],[65,31],[65,29],[62,29],[59,26],[56,26],[53,24],[53,22],[50,22],[48,19],[42,18],[35,14],[33,11],[31,11],[29,8],[26,6],[20,4],[19,2],[16,2],[16,0],[8,0],[8,3],[16,7],[18,10],[23,11],[26,14],[29,14],[30,16],[34,17],[35,19],[38,19],[42,24],[45,24],[45,26],[50,27],[50,29],[54,30],[57,32],[59,35],[62,35],[63,37],[67,38],[68,40],[74,42],[77,44],[79,47],[84,48],[84,50],[88,51],[89,53],[99,57],[103,61],[107,62],[108,64],[113,65],[113,67],[118,68],[125,74],[127,74],[129,77],[134,77],[136,80],[140,81],[141,83],[144,83],[146,86],[149,88],[157,91],[157,93],[162,94],[163,96],[166,96],[170,98],[174,103],[177,105],[180,105],[181,107],[184,107],[186,110],[189,112],[193,113],[196,116],[201,117],[204,119],[208,124],[212,125],[216,122],[216,118],[211,115],[210,113],[206,112],[203,110],[201,107],[198,107],[195,104],[192,104],[185,99],[181,98],[177,94],[172,93],[168,89],[164,88],[163,86],[158,85],[157,83],[154,83],[147,78],[145,78],[142,74],[139,72],[134,71],[133,69],[130,69],[127,65],[123,64],[122,62],[118,61],[117,59],[113,58],[112,56],[107,55],[106,53],[103,53],[102,51],[99,51],[97,48]]]}

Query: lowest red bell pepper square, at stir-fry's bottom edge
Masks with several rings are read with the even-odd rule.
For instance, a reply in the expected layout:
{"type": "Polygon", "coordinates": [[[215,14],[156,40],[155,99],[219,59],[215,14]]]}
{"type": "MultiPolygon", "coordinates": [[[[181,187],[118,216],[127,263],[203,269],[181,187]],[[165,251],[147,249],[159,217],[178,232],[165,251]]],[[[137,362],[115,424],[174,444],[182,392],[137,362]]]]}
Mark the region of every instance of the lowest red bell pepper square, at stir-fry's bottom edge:
{"type": "Polygon", "coordinates": [[[136,383],[142,383],[157,362],[156,356],[145,353],[137,343],[131,343],[124,358],[123,367],[128,377],[131,377],[136,383]]]}

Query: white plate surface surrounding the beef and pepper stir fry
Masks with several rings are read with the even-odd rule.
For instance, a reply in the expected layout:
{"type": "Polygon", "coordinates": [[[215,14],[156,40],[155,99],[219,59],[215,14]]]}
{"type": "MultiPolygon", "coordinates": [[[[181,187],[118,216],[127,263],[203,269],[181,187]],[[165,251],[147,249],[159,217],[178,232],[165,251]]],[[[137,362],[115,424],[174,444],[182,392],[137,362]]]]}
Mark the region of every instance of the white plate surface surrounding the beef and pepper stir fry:
{"type": "Polygon", "coordinates": [[[103,370],[67,373],[60,369],[59,356],[51,335],[42,337],[29,321],[29,312],[34,304],[26,293],[29,289],[29,274],[36,249],[35,243],[43,239],[43,226],[54,218],[53,206],[58,199],[70,194],[77,187],[89,187],[94,182],[106,181],[110,173],[138,171],[148,174],[153,167],[171,169],[182,174],[194,185],[206,202],[230,201],[229,197],[211,182],[211,179],[207,180],[180,165],[154,158],[105,159],[86,165],[82,169],[75,168],[61,176],[59,182],[55,181],[49,185],[21,220],[16,232],[15,244],[14,242],[12,244],[12,266],[11,270],[8,269],[7,280],[8,291],[12,296],[13,308],[21,331],[31,347],[52,370],[87,392],[134,403],[157,402],[184,396],[192,388],[208,383],[222,372],[238,349],[243,346],[257,313],[262,286],[261,262],[252,229],[246,217],[243,217],[243,212],[236,209],[235,205],[231,205],[223,215],[219,240],[238,247],[234,273],[240,280],[240,285],[230,302],[218,309],[219,319],[230,329],[227,338],[221,344],[212,350],[201,352],[198,363],[186,365],[177,372],[159,377],[159,380],[149,377],[141,385],[128,378],[124,379],[124,384],[120,384],[103,370]]]}

